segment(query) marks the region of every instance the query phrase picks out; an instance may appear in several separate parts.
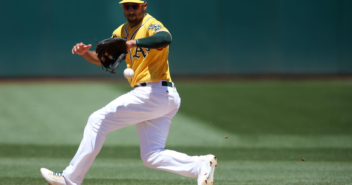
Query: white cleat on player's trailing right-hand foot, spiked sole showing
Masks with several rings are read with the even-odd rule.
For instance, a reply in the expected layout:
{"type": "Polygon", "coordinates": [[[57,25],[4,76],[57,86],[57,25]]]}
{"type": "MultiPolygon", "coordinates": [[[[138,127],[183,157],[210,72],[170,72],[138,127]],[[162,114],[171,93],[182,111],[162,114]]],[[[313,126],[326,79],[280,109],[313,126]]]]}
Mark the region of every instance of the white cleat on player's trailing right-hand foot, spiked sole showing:
{"type": "Polygon", "coordinates": [[[213,185],[215,167],[218,166],[218,162],[216,157],[211,154],[202,157],[204,159],[202,159],[203,164],[201,164],[198,175],[198,185],[213,185]]]}

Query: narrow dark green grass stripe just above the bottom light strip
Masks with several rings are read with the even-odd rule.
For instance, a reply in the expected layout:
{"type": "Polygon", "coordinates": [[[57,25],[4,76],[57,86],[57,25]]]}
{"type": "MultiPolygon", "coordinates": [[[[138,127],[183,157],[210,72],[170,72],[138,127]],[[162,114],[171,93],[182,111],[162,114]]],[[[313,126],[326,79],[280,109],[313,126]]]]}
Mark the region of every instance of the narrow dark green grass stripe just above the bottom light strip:
{"type": "MultiPolygon", "coordinates": [[[[1,144],[2,158],[68,158],[78,146],[41,146],[1,144]]],[[[188,155],[214,154],[219,160],[275,160],[299,161],[352,161],[352,148],[224,148],[172,147],[167,148],[188,155]]],[[[140,159],[139,147],[103,146],[98,158],[140,159]]]]}

